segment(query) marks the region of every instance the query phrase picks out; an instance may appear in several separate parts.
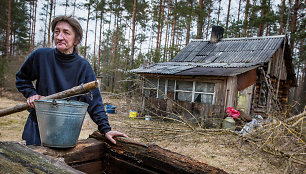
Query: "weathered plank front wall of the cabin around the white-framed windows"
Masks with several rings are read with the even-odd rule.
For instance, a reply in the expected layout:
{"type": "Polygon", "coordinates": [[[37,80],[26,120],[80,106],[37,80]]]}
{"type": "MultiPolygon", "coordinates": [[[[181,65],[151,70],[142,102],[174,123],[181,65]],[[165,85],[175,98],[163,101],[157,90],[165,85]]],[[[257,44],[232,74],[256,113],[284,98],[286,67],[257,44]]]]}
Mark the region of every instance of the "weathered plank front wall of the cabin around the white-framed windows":
{"type": "MultiPolygon", "coordinates": [[[[197,83],[214,83],[213,103],[189,102],[175,99],[174,91],[167,91],[167,97],[161,98],[156,96],[143,95],[143,115],[170,117],[201,125],[205,128],[219,128],[225,116],[226,80],[220,77],[191,77],[191,76],[144,76],[145,79],[160,79],[176,82],[193,82],[197,83]]],[[[170,85],[171,86],[171,85],[170,85]]]]}

